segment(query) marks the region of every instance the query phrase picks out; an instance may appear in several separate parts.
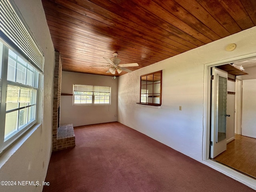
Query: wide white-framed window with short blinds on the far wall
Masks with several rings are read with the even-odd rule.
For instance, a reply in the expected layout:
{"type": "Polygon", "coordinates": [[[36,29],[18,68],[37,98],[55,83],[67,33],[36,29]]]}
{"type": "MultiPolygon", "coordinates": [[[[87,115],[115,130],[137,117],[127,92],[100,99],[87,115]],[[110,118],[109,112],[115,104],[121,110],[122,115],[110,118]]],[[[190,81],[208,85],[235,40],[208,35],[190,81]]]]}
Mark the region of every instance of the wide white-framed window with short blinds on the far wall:
{"type": "Polygon", "coordinates": [[[73,85],[73,105],[110,105],[110,87],[73,85]]]}

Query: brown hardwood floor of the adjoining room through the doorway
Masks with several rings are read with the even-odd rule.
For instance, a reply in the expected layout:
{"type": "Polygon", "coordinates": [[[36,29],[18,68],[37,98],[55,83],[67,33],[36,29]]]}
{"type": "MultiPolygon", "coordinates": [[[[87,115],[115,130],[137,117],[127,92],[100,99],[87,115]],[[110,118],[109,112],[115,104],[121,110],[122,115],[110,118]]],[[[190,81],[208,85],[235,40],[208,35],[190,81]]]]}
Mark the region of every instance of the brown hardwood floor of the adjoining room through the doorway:
{"type": "Polygon", "coordinates": [[[230,166],[256,179],[256,139],[235,134],[235,140],[227,144],[227,150],[214,160],[230,166]]]}

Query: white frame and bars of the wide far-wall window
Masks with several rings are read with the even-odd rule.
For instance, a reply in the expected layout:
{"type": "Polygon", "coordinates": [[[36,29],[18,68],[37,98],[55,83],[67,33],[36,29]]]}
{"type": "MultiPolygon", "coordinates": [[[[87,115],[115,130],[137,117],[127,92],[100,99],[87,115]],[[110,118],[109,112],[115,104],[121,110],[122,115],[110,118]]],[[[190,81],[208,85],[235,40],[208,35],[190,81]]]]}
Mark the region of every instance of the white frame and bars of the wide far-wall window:
{"type": "MultiPolygon", "coordinates": [[[[103,96],[103,95],[102,95],[103,96]]],[[[104,96],[104,100],[105,100],[105,97],[104,96]]],[[[81,98],[80,98],[81,100],[81,98]]],[[[99,99],[100,100],[100,99],[99,99]]],[[[111,105],[111,87],[110,86],[96,86],[96,85],[81,85],[81,84],[73,84],[73,98],[72,98],[72,105],[74,106],[86,106],[86,105],[111,105]],[[82,90],[78,90],[78,91],[75,91],[74,90],[74,87],[75,86],[80,86],[80,87],[84,87],[84,89],[88,88],[88,87],[93,87],[93,90],[95,87],[102,87],[102,88],[108,88],[109,89],[109,92],[105,92],[105,91],[89,91],[89,90],[86,90],[86,91],[82,91],[82,90]],[[92,94],[75,94],[75,92],[91,92],[92,94]],[[95,99],[96,95],[95,93],[109,93],[109,95],[107,95],[109,97],[109,102],[108,103],[95,103],[95,99]],[[92,102],[91,103],[75,103],[75,96],[77,95],[80,95],[80,97],[82,95],[85,95],[85,96],[92,96],[92,102]]]]}

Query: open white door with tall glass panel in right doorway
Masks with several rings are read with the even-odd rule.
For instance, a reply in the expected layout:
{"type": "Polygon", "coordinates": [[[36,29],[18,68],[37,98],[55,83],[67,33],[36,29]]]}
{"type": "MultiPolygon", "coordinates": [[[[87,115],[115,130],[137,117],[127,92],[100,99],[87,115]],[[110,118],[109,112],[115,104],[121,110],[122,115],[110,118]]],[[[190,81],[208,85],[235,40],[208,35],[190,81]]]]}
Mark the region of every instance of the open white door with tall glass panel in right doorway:
{"type": "Polygon", "coordinates": [[[210,157],[214,158],[227,148],[226,141],[226,105],[228,73],[212,68],[211,103],[211,146],[210,157]]]}

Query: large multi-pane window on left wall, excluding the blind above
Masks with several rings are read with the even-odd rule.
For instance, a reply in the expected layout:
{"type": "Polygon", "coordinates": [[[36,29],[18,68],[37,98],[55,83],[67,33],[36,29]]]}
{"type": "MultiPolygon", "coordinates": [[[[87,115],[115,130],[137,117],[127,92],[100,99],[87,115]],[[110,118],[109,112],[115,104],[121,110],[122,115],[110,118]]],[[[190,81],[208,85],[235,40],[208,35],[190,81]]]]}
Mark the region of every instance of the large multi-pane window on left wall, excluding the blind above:
{"type": "Polygon", "coordinates": [[[0,131],[5,147],[36,122],[39,73],[3,42],[0,58],[0,119],[5,122],[0,131]]]}

